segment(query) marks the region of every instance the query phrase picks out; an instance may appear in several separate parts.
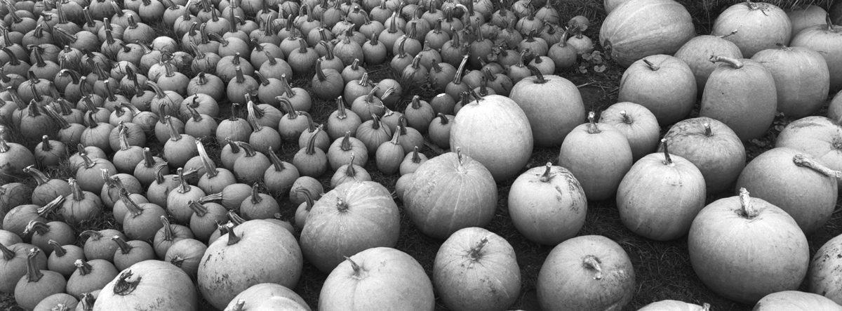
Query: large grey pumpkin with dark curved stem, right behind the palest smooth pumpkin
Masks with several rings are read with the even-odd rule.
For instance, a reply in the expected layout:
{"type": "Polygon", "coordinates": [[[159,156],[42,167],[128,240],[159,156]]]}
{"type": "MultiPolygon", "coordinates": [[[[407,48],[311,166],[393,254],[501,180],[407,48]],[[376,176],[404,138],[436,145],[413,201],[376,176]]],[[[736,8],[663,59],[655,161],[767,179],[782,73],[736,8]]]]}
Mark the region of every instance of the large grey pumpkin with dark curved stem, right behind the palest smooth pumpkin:
{"type": "MultiPolygon", "coordinates": [[[[535,67],[530,67],[534,69],[535,67]]],[[[520,105],[532,129],[536,146],[555,147],[584,120],[584,103],[578,88],[566,78],[534,76],[514,84],[509,98],[520,105]]]]}

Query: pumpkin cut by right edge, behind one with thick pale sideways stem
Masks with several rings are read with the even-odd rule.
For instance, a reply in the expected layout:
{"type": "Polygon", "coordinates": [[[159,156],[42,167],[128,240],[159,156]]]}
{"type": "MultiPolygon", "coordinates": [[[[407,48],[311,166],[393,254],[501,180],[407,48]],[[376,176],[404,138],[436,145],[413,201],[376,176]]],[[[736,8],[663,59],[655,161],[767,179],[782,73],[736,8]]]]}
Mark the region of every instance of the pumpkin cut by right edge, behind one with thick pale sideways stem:
{"type": "Polygon", "coordinates": [[[842,127],[823,116],[806,116],[784,127],[775,147],[808,153],[830,169],[842,170],[842,127]]]}

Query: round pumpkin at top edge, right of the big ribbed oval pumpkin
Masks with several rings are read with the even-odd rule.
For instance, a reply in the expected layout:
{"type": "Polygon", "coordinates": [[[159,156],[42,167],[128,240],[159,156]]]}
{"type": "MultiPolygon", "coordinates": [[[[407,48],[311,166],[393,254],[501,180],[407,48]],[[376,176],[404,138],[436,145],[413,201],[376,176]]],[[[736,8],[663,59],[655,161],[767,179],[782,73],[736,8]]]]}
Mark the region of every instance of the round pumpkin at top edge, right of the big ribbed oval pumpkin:
{"type": "Polygon", "coordinates": [[[774,48],[775,44],[786,44],[792,37],[792,23],[786,12],[771,3],[733,4],[713,21],[711,35],[728,35],[725,40],[733,42],[744,57],[774,48]]]}

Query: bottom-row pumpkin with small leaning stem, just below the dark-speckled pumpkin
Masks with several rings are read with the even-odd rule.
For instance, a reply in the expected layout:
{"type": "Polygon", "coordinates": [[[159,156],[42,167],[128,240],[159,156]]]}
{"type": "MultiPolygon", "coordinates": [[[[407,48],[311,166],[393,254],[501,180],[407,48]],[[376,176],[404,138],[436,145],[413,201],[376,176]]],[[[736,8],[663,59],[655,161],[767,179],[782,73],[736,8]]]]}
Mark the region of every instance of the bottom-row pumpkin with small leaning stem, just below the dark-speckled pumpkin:
{"type": "Polygon", "coordinates": [[[433,284],[451,310],[507,310],[520,297],[520,268],[506,239],[464,228],[436,253],[433,284]]]}

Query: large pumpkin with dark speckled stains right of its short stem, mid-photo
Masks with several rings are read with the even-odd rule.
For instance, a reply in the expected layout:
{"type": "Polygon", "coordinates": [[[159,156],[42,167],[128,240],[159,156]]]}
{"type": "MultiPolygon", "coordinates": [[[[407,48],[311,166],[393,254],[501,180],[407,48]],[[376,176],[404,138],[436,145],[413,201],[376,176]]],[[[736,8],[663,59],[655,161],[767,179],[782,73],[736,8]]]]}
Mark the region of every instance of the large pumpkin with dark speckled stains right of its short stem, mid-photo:
{"type": "Polygon", "coordinates": [[[573,238],[588,213],[578,180],[552,163],[520,174],[509,188],[508,200],[514,228],[538,244],[556,245],[573,238]]]}

